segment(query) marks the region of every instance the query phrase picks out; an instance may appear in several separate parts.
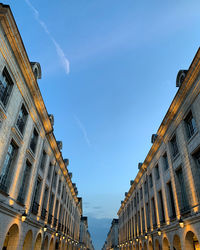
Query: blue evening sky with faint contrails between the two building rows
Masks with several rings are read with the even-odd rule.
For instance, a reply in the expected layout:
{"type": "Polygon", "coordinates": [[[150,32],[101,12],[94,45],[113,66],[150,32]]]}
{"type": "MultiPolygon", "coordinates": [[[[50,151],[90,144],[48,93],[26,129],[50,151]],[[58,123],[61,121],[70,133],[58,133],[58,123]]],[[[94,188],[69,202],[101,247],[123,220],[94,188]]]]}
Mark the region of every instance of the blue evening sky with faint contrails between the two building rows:
{"type": "Polygon", "coordinates": [[[95,249],[200,40],[200,1],[5,0],[38,80],[95,249]]]}

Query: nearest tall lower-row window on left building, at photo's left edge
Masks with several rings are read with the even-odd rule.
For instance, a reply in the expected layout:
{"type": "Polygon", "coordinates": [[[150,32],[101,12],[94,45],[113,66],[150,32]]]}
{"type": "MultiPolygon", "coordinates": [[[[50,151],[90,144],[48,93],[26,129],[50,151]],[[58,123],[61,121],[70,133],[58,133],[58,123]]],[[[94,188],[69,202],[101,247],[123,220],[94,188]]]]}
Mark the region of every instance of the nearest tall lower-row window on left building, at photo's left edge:
{"type": "Polygon", "coordinates": [[[17,145],[14,143],[14,141],[11,141],[0,174],[0,189],[5,192],[8,192],[8,188],[10,186],[10,180],[13,172],[13,162],[17,155],[17,150],[17,145]]]}

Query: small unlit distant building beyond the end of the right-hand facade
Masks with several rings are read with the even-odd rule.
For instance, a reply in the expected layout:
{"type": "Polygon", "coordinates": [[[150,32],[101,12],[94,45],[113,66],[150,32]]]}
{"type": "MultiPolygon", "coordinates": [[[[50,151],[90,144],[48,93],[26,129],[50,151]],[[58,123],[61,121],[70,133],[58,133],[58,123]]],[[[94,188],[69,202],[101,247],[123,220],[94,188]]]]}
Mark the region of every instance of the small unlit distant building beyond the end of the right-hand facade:
{"type": "Polygon", "coordinates": [[[102,249],[118,250],[119,249],[118,235],[119,235],[118,219],[113,219],[110,230],[107,234],[106,241],[102,249]]]}

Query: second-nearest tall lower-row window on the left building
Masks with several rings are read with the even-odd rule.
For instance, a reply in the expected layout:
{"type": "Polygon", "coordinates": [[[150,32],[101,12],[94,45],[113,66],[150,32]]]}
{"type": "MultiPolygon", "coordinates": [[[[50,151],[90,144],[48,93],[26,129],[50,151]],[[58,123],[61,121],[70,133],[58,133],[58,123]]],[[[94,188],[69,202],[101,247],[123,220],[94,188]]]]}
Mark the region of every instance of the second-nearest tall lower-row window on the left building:
{"type": "Polygon", "coordinates": [[[31,173],[31,163],[29,161],[26,161],[26,166],[23,173],[22,183],[19,191],[19,195],[17,197],[17,200],[24,204],[26,193],[29,186],[29,180],[30,180],[30,173],[31,173]]]}

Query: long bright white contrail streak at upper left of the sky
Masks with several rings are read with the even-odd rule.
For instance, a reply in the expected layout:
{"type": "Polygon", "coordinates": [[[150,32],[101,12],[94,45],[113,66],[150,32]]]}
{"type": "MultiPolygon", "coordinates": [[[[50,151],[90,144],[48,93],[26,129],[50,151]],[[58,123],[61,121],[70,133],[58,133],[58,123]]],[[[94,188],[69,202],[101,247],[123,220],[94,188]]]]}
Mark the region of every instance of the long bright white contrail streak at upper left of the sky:
{"type": "Polygon", "coordinates": [[[54,44],[54,46],[56,48],[57,55],[60,58],[62,66],[63,66],[63,68],[65,70],[65,73],[69,74],[69,72],[70,72],[70,63],[69,63],[69,60],[67,59],[67,57],[65,56],[64,51],[62,50],[62,48],[60,47],[60,45],[58,44],[58,42],[54,39],[54,37],[49,32],[49,30],[48,30],[47,25],[45,24],[45,22],[43,22],[40,19],[39,11],[30,3],[29,0],[25,0],[25,2],[30,7],[30,9],[33,11],[33,14],[34,14],[35,19],[37,20],[37,22],[43,28],[44,32],[49,36],[50,40],[53,42],[53,44],[54,44]]]}

